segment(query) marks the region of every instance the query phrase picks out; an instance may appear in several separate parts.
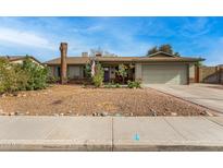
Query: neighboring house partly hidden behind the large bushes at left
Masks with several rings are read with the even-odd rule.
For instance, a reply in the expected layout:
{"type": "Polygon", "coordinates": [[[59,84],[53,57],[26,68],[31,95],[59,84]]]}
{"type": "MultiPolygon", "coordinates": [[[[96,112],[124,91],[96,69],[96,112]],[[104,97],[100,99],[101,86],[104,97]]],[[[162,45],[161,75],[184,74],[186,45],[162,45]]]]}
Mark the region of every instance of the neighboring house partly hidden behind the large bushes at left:
{"type": "Polygon", "coordinates": [[[42,65],[41,62],[33,56],[0,56],[0,59],[8,59],[11,63],[23,63],[26,58],[29,58],[33,62],[42,65]]]}

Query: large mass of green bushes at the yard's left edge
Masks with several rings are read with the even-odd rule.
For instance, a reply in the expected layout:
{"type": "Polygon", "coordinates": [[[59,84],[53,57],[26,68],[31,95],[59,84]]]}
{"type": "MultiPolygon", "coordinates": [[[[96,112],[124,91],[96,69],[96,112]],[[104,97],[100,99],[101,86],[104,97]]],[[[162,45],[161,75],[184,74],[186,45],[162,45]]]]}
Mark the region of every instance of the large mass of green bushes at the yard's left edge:
{"type": "Polygon", "coordinates": [[[28,58],[22,64],[0,59],[0,93],[46,88],[47,76],[48,69],[28,58]]]}

